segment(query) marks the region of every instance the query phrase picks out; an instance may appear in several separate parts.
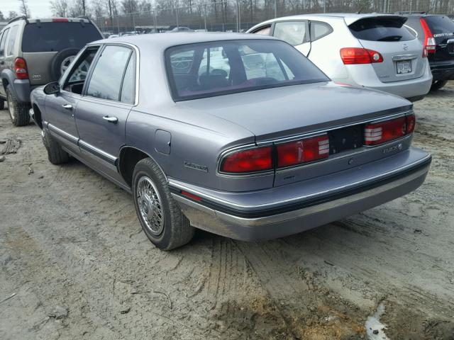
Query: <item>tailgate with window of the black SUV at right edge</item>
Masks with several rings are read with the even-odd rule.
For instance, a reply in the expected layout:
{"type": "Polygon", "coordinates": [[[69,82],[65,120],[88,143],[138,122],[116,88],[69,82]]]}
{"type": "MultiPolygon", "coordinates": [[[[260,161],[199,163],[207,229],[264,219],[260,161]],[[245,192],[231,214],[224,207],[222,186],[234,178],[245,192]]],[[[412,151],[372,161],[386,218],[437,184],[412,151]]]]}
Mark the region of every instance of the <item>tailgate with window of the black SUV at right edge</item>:
{"type": "Polygon", "coordinates": [[[436,42],[436,52],[429,57],[436,62],[454,60],[454,23],[447,16],[424,17],[436,42]]]}

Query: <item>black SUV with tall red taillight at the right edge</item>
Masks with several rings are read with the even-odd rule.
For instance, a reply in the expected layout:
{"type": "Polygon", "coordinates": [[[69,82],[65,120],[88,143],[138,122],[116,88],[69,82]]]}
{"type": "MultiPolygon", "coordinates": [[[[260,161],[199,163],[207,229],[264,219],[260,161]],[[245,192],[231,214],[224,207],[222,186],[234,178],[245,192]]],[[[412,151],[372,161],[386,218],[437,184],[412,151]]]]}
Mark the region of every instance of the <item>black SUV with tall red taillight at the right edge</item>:
{"type": "Polygon", "coordinates": [[[431,90],[441,89],[454,79],[454,22],[448,16],[427,13],[401,13],[406,26],[414,30],[427,53],[433,83],[431,90]]]}

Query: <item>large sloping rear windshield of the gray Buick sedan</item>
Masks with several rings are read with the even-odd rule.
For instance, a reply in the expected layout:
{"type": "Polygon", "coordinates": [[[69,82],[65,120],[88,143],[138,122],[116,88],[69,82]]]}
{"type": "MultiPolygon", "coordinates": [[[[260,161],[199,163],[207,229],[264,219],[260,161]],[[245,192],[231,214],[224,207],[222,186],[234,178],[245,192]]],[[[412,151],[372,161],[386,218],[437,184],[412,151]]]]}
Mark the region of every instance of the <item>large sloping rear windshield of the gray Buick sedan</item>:
{"type": "Polygon", "coordinates": [[[279,40],[228,40],[165,52],[175,101],[328,81],[301,53],[279,40]]]}

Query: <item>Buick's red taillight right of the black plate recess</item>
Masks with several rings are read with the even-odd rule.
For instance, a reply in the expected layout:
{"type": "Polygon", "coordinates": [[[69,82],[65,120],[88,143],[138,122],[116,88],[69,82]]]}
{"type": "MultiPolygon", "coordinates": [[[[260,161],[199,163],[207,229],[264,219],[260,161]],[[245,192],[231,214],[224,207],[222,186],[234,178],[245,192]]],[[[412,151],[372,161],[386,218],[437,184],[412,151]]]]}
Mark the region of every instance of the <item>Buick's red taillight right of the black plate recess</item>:
{"type": "Polygon", "coordinates": [[[414,131],[415,124],[414,114],[366,124],[364,128],[365,145],[379,145],[408,135],[414,131]]]}

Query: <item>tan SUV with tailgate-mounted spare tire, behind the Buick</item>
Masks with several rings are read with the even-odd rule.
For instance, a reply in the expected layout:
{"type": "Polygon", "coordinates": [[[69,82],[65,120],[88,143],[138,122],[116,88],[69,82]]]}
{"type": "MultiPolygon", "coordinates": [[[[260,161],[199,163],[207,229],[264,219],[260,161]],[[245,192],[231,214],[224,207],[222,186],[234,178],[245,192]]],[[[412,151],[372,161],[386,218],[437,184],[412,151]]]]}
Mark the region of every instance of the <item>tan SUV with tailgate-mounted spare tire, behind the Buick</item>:
{"type": "Polygon", "coordinates": [[[30,93],[57,81],[79,50],[103,39],[86,18],[15,18],[0,32],[0,109],[8,102],[14,125],[30,121],[30,93]]]}

